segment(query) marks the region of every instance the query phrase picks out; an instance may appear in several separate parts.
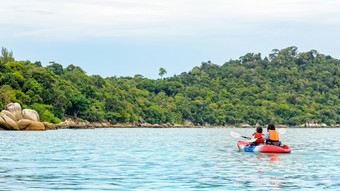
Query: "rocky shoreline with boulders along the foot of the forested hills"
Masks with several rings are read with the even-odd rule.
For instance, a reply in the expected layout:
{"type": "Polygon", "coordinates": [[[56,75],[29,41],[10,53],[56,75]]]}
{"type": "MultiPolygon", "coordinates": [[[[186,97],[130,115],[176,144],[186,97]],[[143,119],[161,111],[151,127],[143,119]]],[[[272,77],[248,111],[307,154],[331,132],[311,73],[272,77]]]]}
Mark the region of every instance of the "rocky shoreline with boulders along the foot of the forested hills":
{"type": "MultiPolygon", "coordinates": [[[[111,124],[109,122],[87,122],[77,121],[73,119],[67,119],[66,121],[58,124],[52,124],[49,122],[40,122],[39,114],[35,110],[21,109],[19,103],[9,103],[4,110],[0,112],[0,130],[13,130],[13,131],[45,131],[45,130],[57,130],[57,129],[95,129],[95,128],[253,128],[261,126],[260,124],[249,125],[240,124],[239,126],[225,125],[214,126],[210,124],[194,125],[191,121],[186,121],[185,124],[150,124],[150,123],[116,123],[111,124]]],[[[326,124],[319,124],[316,121],[306,122],[299,126],[286,126],[277,125],[279,128],[327,128],[327,127],[340,127],[340,124],[334,126],[328,126],[326,124]]]]}

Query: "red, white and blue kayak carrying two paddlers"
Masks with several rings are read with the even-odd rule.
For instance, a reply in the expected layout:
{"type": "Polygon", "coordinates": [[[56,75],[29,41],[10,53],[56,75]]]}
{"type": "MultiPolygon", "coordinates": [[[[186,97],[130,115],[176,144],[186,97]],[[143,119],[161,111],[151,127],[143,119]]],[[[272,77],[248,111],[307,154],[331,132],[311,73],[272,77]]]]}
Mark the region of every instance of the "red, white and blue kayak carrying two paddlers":
{"type": "Polygon", "coordinates": [[[259,153],[290,153],[291,149],[288,145],[274,146],[274,145],[259,145],[249,146],[248,142],[237,141],[237,146],[240,151],[244,152],[259,152],[259,153]]]}

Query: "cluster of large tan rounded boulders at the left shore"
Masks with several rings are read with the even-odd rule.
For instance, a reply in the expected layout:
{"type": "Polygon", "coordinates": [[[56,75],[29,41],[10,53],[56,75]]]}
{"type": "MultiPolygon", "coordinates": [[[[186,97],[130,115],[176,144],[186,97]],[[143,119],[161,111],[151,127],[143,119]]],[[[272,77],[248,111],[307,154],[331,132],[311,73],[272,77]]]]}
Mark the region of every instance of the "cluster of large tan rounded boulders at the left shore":
{"type": "Polygon", "coordinates": [[[0,112],[0,129],[3,130],[44,131],[46,127],[40,122],[38,112],[21,110],[19,103],[10,103],[0,112]]]}

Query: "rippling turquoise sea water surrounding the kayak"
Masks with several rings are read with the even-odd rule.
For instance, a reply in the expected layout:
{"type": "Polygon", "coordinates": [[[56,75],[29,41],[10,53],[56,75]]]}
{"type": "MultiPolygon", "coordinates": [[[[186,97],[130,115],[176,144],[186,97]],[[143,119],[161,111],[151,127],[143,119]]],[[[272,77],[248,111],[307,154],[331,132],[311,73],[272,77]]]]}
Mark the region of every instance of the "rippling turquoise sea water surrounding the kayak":
{"type": "Polygon", "coordinates": [[[230,131],[0,132],[0,190],[340,190],[340,129],[287,129],[291,154],[239,152],[230,131]]]}

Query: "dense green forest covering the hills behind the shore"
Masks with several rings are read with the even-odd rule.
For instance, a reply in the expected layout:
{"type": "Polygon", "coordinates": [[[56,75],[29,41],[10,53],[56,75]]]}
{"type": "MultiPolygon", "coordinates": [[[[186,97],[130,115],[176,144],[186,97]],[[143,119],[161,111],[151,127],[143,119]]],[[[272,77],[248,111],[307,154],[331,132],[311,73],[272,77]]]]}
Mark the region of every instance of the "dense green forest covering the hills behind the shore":
{"type": "MultiPolygon", "coordinates": [[[[155,71],[157,72],[157,71],[155,71]]],[[[161,68],[160,76],[165,74],[161,68]]],[[[114,71],[112,71],[114,75],[114,71]]],[[[157,80],[87,75],[79,66],[16,61],[2,48],[0,109],[35,109],[42,121],[195,125],[340,123],[340,60],[297,47],[248,53],[222,66],[203,62],[157,80]]]]}

